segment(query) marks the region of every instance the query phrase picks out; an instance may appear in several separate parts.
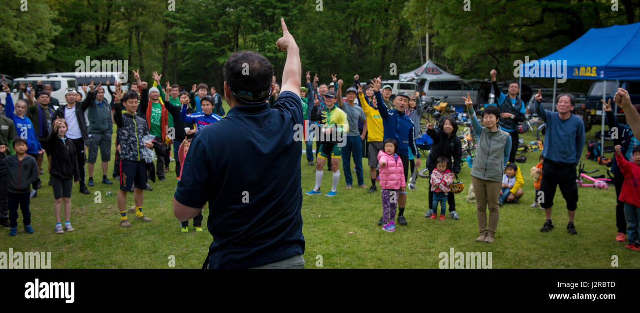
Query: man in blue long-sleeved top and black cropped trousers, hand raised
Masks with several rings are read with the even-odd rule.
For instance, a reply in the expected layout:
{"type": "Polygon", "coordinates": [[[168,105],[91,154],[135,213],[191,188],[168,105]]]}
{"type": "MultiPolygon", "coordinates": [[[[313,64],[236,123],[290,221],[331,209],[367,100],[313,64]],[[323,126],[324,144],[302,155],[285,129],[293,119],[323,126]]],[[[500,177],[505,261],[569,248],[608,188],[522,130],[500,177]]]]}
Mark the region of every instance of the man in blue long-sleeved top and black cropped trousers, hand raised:
{"type": "Polygon", "coordinates": [[[545,209],[547,217],[540,231],[548,232],[554,229],[551,212],[556,189],[559,186],[566,200],[569,215],[566,230],[569,234],[575,235],[578,234],[573,224],[575,210],[578,208],[578,188],[575,179],[577,178],[576,167],[584,149],[584,122],[582,118],[571,113],[575,108],[575,98],[570,93],[557,95],[556,112],[547,111],[542,106],[540,89],[534,95],[534,100],[536,113],[547,125],[545,145],[542,149],[542,156],[545,157],[542,163],[542,181],[539,195],[535,195],[536,198],[540,198],[540,207],[545,209]]]}

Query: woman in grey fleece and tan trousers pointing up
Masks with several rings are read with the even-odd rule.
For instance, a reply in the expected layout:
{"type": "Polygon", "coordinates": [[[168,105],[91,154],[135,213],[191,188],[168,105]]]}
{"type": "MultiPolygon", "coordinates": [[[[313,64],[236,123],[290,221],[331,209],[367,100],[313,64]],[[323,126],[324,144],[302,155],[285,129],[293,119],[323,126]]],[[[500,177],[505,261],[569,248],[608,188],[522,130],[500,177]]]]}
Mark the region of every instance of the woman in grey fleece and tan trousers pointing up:
{"type": "Polygon", "coordinates": [[[476,118],[474,102],[467,93],[465,104],[471,116],[471,127],[477,134],[478,143],[474,167],[471,169],[471,180],[476,191],[476,209],[480,237],[476,241],[493,243],[495,230],[498,228],[498,199],[502,186],[502,172],[509,161],[511,153],[511,136],[500,129],[498,120],[500,110],[495,106],[484,109],[484,127],[476,118]],[[486,208],[489,207],[489,224],[487,225],[486,208]]]}

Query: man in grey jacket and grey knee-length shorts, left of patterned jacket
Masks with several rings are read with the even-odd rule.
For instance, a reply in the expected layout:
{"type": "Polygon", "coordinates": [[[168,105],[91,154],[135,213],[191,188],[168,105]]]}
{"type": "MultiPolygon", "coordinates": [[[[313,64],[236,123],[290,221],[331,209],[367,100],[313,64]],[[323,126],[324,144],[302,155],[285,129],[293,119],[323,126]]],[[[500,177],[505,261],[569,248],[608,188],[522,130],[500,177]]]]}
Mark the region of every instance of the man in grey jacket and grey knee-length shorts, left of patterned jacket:
{"type": "Polygon", "coordinates": [[[87,186],[95,186],[95,184],[93,184],[93,168],[95,166],[95,161],[98,159],[98,147],[100,147],[102,184],[113,185],[113,182],[107,179],[109,161],[111,161],[111,133],[113,133],[111,106],[109,106],[107,99],[104,99],[104,88],[102,88],[102,83],[98,84],[98,86],[94,88],[92,81],[91,84],[89,84],[89,89],[89,92],[86,92],[86,86],[83,86],[86,97],[80,104],[80,108],[83,111],[86,111],[89,122],[89,127],[87,129],[89,132],[87,137],[87,140],[89,141],[89,165],[87,165],[89,181],[87,182],[87,186]]]}

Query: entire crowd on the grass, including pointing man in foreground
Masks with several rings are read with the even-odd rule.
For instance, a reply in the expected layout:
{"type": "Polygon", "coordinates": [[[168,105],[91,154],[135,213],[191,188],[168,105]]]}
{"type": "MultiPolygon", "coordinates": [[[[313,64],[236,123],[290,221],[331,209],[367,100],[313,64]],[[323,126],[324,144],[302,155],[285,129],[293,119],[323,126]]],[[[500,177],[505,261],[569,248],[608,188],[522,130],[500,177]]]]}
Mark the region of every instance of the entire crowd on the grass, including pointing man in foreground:
{"type": "MultiPolygon", "coordinates": [[[[321,195],[325,164],[332,172],[332,188],[325,195],[338,195],[340,160],[346,188],[354,188],[353,157],[358,188],[376,193],[376,184],[380,184],[382,216],[378,225],[388,232],[396,230],[396,221],[407,225],[406,182],[409,173],[420,167],[422,157],[416,144],[422,136],[420,93],[399,92],[393,96],[391,86],[382,86],[381,77],[361,84],[357,74],[353,86],[346,88],[344,98],[343,81],[336,75],[327,85],[319,84],[317,74],[312,79],[307,72],[306,86],[301,86],[299,49],[284,20],[282,26],[284,35],[276,44],[287,51],[282,86],[276,83],[271,63],[264,56],[249,51],[232,54],[223,69],[223,96],[230,107],[225,118],[221,118],[225,111],[216,88],[200,83],[193,84],[188,92],[165,81],[163,90],[162,75],[157,72],[152,74],[154,83],[149,86],[134,70],[135,81],[126,92],[118,83],[111,90],[109,83],[105,88],[92,82],[81,87],[86,93],[83,100],[76,90],[68,89],[67,104],[57,109],[53,105],[59,102],[51,98],[51,86],[45,85],[41,91],[36,90],[37,86],[21,86],[20,99],[14,104],[8,86],[4,85],[7,95],[4,115],[0,115],[0,218],[2,225],[10,229],[10,236],[17,235],[18,207],[25,232],[34,232],[29,198],[37,197],[37,189],[42,188],[38,177],[44,173],[45,154],[54,193],[54,232],[74,230],[70,223],[72,187],[74,182],[78,183],[80,193],[89,194],[88,187],[95,186],[93,172],[98,150],[102,184],[113,184],[107,177],[113,124],[117,127],[113,178],[120,184],[117,197],[120,226],[131,227],[127,213],[136,220],[152,221],[143,213],[144,191],[152,190],[148,181],[155,181],[156,176],[159,181],[166,181],[173,151],[179,179],[173,204],[182,232],[188,232],[188,220],[192,218],[196,232],[202,231],[202,210],[207,202],[211,209],[207,223],[215,241],[205,268],[266,264],[296,268],[304,264],[300,142],[284,131],[293,129],[293,125],[315,125],[324,135],[317,136],[312,127],[307,129],[306,164],[315,166],[316,182],[306,195],[321,195]],[[245,63],[252,67],[251,77],[243,74],[245,63]],[[104,98],[105,91],[112,95],[110,103],[104,98]],[[363,157],[368,160],[370,186],[365,184],[363,157]],[[246,166],[255,159],[269,166],[246,166]],[[266,183],[259,177],[279,178],[266,183]],[[130,192],[134,194],[135,205],[127,210],[130,192]],[[251,216],[237,214],[249,207],[253,210],[251,216]],[[248,245],[249,242],[252,244],[248,245]]],[[[496,74],[495,70],[490,72],[494,90],[499,90],[496,74]]],[[[483,125],[470,96],[465,97],[472,131],[477,136],[470,172],[479,227],[476,241],[493,243],[500,205],[518,202],[524,195],[522,172],[514,163],[517,126],[525,119],[519,87],[516,81],[510,82],[508,94],[500,93],[497,104],[481,111],[483,125]]],[[[534,95],[534,110],[546,123],[547,131],[540,163],[533,171],[536,183],[532,207],[545,210],[546,220],[540,231],[554,229],[552,208],[559,186],[568,210],[568,233],[577,234],[575,179],[584,148],[584,124],[572,113],[575,108],[572,95],[558,95],[557,110],[553,112],[543,108],[541,98],[538,91],[534,95]]],[[[627,248],[640,250],[640,145],[637,135],[634,138],[634,134],[640,134],[640,115],[625,90],[620,88],[614,100],[625,111],[628,122],[627,128],[620,125],[611,113],[610,103],[604,104],[609,126],[625,129],[615,142],[616,239],[624,241],[627,233],[627,248]]],[[[460,219],[450,188],[461,172],[462,151],[457,132],[454,118],[426,121],[426,134],[433,139],[433,147],[426,156],[431,178],[428,211],[424,216],[431,220],[445,220],[447,204],[449,216],[460,219]]]]}

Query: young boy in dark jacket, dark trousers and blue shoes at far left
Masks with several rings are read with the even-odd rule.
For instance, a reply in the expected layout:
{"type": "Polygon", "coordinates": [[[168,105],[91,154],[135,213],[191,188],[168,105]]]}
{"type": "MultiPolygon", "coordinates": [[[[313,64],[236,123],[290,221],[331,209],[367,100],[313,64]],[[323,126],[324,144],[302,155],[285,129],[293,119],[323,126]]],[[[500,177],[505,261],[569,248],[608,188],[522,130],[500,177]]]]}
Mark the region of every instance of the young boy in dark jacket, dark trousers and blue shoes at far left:
{"type": "Polygon", "coordinates": [[[8,174],[7,198],[9,202],[9,221],[11,230],[9,236],[18,233],[18,205],[22,210],[24,231],[33,234],[31,227],[31,212],[29,212],[29,185],[38,179],[38,164],[36,159],[26,154],[27,141],[16,137],[13,139],[15,154],[4,157],[6,146],[0,146],[0,168],[4,167],[8,174]]]}

